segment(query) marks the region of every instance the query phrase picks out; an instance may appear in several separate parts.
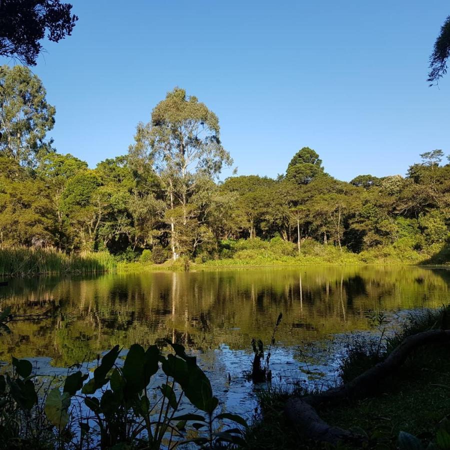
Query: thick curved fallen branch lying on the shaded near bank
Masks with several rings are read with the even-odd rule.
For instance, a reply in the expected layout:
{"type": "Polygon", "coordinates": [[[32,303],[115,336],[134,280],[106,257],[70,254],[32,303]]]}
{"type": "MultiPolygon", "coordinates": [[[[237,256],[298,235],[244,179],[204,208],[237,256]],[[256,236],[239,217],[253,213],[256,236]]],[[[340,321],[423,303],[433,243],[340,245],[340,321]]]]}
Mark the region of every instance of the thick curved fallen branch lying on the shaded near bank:
{"type": "Polygon", "coordinates": [[[286,417],[306,437],[313,440],[336,443],[339,440],[361,439],[361,436],[326,423],[319,417],[315,408],[324,404],[338,403],[344,399],[364,398],[376,390],[380,381],[397,371],[416,348],[448,342],[450,342],[450,330],[429,330],[408,336],[389,353],[386,359],[348,383],[316,395],[289,398],[284,407],[286,417]]]}

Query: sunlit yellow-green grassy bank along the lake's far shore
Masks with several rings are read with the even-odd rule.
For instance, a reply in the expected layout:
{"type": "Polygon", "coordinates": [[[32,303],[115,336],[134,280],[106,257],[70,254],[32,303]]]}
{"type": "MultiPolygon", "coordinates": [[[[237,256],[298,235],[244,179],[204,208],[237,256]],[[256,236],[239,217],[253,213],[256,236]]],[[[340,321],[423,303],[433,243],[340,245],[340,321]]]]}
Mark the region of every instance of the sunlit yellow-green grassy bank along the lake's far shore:
{"type": "MultiPolygon", "coordinates": [[[[324,245],[314,240],[305,240],[300,249],[292,242],[281,238],[270,240],[239,239],[224,240],[219,249],[209,253],[200,253],[193,259],[187,256],[177,261],[166,259],[155,264],[150,250],[144,250],[146,258],[136,257],[134,261],[120,262],[120,271],[139,270],[184,270],[238,267],[303,266],[303,265],[407,265],[407,264],[444,264],[450,261],[448,248],[429,246],[416,250],[408,239],[399,239],[388,246],[374,247],[360,253],[347,248],[324,245]]],[[[144,255],[144,253],[142,253],[144,255]]],[[[168,255],[165,256],[166,258],[168,255]]]]}

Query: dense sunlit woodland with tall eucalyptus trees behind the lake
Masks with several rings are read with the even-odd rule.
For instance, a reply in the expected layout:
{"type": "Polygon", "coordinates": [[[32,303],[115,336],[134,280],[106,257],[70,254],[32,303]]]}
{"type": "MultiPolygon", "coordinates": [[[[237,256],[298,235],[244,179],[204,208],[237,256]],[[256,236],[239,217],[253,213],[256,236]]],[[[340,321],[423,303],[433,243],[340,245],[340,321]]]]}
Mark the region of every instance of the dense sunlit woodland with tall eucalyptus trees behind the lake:
{"type": "Polygon", "coordinates": [[[293,256],[315,241],[343,252],[393,245],[448,257],[450,156],[442,150],[411,155],[404,176],[345,182],[303,147],[276,179],[221,182],[232,159],[218,118],[174,88],[137,124],[126,154],[89,168],[53,147],[55,108],[28,68],[0,66],[0,102],[1,248],[37,243],[126,260],[146,250],[153,262],[205,261],[231,257],[237,239],[247,239],[246,249],[271,239],[293,256]]]}

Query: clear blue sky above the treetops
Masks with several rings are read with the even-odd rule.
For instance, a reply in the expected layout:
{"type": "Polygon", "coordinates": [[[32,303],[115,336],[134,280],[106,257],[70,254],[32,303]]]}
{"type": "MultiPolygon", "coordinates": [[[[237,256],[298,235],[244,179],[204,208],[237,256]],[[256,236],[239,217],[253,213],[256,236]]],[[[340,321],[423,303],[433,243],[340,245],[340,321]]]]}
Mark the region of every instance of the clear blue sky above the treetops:
{"type": "Polygon", "coordinates": [[[92,167],[174,86],[218,115],[238,174],[276,176],[302,146],[344,180],[450,152],[450,73],[426,82],[446,0],[70,1],[72,36],[32,70],[56,149],[92,167]]]}

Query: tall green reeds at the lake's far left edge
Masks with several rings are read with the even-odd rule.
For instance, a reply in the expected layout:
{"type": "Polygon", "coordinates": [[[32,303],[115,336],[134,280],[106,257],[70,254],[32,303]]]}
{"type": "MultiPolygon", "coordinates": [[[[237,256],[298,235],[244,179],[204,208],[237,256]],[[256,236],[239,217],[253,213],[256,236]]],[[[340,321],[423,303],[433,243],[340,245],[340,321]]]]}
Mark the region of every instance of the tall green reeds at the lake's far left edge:
{"type": "Polygon", "coordinates": [[[107,251],[64,253],[56,248],[11,247],[0,249],[0,276],[114,271],[107,251]]]}

